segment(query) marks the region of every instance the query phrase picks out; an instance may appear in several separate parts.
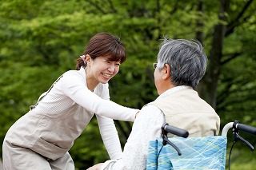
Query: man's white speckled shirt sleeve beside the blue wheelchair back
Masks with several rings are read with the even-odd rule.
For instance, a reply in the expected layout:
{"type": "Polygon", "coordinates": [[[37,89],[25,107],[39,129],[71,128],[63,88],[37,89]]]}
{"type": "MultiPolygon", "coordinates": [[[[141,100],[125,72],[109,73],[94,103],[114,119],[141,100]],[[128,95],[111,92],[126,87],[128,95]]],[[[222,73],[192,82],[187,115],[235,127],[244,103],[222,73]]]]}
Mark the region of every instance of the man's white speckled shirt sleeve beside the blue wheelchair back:
{"type": "MultiPolygon", "coordinates": [[[[160,109],[154,105],[143,107],[134,121],[122,158],[119,160],[107,160],[102,165],[102,169],[146,169],[149,141],[154,136],[155,128],[161,127],[163,122],[164,116],[160,109]]],[[[160,136],[161,128],[157,133],[160,136]]]]}

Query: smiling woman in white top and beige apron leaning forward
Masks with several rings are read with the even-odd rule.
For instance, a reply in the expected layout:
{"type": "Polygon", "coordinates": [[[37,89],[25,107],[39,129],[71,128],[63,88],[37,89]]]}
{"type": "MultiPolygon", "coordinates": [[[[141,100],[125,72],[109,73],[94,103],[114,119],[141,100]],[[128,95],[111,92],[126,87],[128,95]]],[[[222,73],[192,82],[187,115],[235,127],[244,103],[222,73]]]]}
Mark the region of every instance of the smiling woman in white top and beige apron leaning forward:
{"type": "Polygon", "coordinates": [[[138,109],[110,101],[107,83],[123,61],[126,49],[119,38],[94,35],[77,59],[77,70],[62,74],[6,133],[4,169],[74,169],[68,151],[94,113],[110,158],[120,158],[122,149],[113,119],[134,121],[138,113],[138,109]]]}

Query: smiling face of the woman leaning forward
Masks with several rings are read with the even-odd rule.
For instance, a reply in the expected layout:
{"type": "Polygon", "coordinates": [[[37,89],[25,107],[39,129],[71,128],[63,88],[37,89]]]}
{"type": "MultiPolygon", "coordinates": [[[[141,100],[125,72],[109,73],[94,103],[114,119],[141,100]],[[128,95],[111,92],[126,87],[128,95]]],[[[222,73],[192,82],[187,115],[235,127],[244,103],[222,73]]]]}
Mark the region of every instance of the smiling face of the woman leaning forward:
{"type": "Polygon", "coordinates": [[[107,57],[96,57],[95,59],[90,57],[89,61],[87,58],[86,60],[86,77],[91,81],[106,84],[119,71],[120,61],[109,61],[107,57]]]}

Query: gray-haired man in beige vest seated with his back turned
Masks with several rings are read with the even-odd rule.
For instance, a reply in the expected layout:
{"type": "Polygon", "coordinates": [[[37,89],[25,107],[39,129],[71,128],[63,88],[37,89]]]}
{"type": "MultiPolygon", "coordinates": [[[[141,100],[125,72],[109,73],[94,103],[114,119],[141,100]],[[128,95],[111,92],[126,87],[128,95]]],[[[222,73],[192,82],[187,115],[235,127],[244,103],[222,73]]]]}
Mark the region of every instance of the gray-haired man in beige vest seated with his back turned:
{"type": "MultiPolygon", "coordinates": [[[[190,136],[216,136],[220,119],[194,90],[206,72],[202,45],[165,38],[154,63],[154,84],[159,97],[145,105],[134,121],[122,159],[107,160],[90,169],[146,169],[150,136],[157,125],[186,129],[190,136]]],[[[160,130],[158,135],[160,137],[160,130]]]]}

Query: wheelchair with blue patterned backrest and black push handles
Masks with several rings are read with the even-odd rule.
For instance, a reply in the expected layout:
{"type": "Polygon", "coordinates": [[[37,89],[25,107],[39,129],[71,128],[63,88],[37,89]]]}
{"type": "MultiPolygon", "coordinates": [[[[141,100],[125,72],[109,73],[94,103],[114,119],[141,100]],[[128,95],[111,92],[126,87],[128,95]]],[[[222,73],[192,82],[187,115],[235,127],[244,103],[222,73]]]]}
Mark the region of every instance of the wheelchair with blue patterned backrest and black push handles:
{"type": "Polygon", "coordinates": [[[161,138],[150,140],[146,170],[225,170],[227,132],[230,128],[234,143],[242,141],[254,151],[254,146],[239,135],[239,130],[256,135],[256,128],[239,121],[226,124],[221,136],[188,137],[186,130],[168,124],[156,128],[155,134],[159,128],[162,130],[161,138]],[[168,138],[168,132],[178,137],[168,138]]]}

